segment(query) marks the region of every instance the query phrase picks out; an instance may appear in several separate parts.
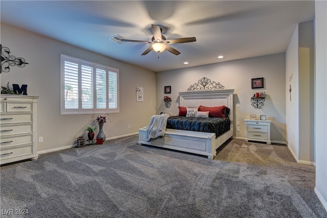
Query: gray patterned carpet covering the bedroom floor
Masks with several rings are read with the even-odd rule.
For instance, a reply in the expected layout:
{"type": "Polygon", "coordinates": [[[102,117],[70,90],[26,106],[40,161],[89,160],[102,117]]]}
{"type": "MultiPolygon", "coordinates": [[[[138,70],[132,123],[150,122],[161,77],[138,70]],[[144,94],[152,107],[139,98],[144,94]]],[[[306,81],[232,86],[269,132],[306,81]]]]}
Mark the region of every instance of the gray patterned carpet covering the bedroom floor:
{"type": "Polygon", "coordinates": [[[286,146],[233,139],[209,160],[137,139],[2,166],[1,217],[327,217],[286,146]]]}

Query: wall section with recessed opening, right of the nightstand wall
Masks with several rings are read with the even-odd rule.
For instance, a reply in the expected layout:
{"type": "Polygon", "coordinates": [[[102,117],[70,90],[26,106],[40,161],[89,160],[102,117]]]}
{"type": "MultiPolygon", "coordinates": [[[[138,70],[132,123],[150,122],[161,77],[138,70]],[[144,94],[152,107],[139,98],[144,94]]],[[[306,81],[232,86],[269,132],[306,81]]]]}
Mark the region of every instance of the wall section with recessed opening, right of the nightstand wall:
{"type": "Polygon", "coordinates": [[[298,162],[313,165],[315,162],[313,20],[299,23],[288,45],[285,92],[288,96],[286,123],[289,148],[298,162]]]}

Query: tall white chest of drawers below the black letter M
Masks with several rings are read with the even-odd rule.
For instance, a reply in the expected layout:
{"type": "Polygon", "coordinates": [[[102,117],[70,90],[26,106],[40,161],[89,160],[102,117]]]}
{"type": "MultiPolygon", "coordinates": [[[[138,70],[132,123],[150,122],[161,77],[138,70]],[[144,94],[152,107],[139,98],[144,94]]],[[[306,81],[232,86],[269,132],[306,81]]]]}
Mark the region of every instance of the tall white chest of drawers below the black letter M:
{"type": "Polygon", "coordinates": [[[38,96],[1,94],[0,163],[36,160],[36,104],[38,96]]]}

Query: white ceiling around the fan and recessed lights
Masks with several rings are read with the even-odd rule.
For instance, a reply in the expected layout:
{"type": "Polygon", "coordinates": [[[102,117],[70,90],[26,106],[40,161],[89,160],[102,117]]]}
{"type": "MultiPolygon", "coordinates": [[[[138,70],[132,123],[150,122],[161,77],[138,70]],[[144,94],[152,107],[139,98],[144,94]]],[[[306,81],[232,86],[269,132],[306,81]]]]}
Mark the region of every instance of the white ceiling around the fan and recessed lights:
{"type": "Polygon", "coordinates": [[[296,23],[314,18],[314,1],[1,1],[1,22],[153,71],[282,53],[296,23]],[[196,37],[141,54],[151,24],[167,39],[196,37]],[[217,56],[223,55],[223,59],[217,56]],[[183,62],[188,61],[185,65],[183,62]]]}

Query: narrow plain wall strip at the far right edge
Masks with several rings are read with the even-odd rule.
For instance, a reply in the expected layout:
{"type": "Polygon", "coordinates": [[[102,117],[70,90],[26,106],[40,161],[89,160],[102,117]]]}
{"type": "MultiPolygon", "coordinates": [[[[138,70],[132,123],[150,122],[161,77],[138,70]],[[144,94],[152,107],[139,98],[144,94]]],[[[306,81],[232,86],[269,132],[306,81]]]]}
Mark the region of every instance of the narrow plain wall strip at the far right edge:
{"type": "Polygon", "coordinates": [[[315,1],[315,192],[327,210],[327,2],[315,1]]]}

